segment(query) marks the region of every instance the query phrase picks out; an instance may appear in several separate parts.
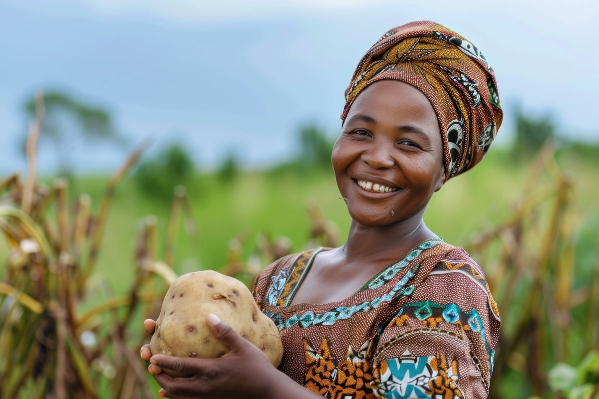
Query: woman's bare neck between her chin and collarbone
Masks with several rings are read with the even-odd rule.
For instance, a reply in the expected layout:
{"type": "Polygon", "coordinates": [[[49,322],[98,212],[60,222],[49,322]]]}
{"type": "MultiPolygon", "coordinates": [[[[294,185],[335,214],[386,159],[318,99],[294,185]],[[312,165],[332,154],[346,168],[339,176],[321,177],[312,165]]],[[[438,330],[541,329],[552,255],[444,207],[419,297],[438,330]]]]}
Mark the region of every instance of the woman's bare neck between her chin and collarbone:
{"type": "Polygon", "coordinates": [[[437,237],[425,226],[423,213],[382,227],[364,226],[352,220],[347,242],[340,249],[347,261],[403,257],[424,240],[437,237]]]}

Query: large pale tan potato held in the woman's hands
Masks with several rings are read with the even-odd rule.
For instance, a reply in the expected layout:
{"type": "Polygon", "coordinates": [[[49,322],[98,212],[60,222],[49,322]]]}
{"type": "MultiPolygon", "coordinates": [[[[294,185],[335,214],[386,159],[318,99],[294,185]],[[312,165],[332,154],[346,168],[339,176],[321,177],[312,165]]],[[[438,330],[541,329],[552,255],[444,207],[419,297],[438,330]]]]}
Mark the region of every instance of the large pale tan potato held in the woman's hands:
{"type": "MultiPolygon", "coordinates": [[[[243,283],[212,270],[187,273],[176,279],[162,302],[150,342],[152,355],[218,358],[229,352],[206,325],[214,313],[244,339],[261,349],[274,367],[283,346],[273,321],[265,316],[243,283]]],[[[181,376],[164,370],[170,376],[181,376]]]]}

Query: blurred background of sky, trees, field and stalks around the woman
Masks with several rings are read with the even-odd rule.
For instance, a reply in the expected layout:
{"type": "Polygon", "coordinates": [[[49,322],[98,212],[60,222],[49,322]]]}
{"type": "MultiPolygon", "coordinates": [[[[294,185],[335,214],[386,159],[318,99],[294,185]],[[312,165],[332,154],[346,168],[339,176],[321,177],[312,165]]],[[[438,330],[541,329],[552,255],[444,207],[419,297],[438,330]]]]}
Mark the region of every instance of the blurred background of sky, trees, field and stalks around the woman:
{"type": "Polygon", "coordinates": [[[154,397],[123,354],[174,276],[341,245],[344,90],[424,19],[505,112],[425,215],[499,303],[492,397],[599,397],[597,2],[0,0],[0,398],[154,397]]]}

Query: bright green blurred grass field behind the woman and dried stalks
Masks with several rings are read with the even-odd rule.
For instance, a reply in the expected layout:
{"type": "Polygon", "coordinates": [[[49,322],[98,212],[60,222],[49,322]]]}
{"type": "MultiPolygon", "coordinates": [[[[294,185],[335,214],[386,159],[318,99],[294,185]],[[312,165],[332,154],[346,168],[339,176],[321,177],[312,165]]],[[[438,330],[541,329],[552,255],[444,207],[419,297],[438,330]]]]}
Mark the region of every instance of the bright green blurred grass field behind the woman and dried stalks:
{"type": "MultiPolygon", "coordinates": [[[[575,181],[574,202],[578,211],[575,287],[588,278],[595,258],[599,232],[598,152],[558,154],[559,165],[575,181]]],[[[427,226],[446,242],[466,246],[474,232],[505,220],[515,203],[523,199],[529,170],[529,163],[514,162],[506,151],[491,151],[479,166],[451,179],[433,196],[425,214],[427,226]]],[[[259,232],[267,232],[271,237],[287,236],[294,243],[294,251],[305,249],[310,221],[304,204],[309,197],[316,199],[326,218],[337,224],[340,244],[347,236],[350,217],[330,169],[244,172],[231,181],[223,181],[216,173],[198,174],[195,179],[190,198],[198,236],[192,239],[180,227],[174,266],[179,274],[222,267],[229,240],[241,232],[249,237],[244,244],[244,259],[256,251],[254,238],[259,232]]],[[[80,176],[72,181],[70,195],[89,193],[96,212],[107,182],[108,176],[80,176]]],[[[115,294],[126,293],[134,276],[135,235],[141,222],[147,215],[156,215],[162,251],[169,213],[169,203],[142,194],[134,178],[126,178],[116,190],[96,264],[96,278],[107,280],[115,294]]],[[[5,242],[0,241],[0,258],[6,255],[5,242]]],[[[481,266],[488,270],[488,265],[481,266]]],[[[134,332],[139,333],[141,326],[140,331],[134,332]]],[[[573,352],[571,361],[580,361],[582,355],[573,352]]],[[[527,391],[510,397],[526,398],[527,391]]]]}

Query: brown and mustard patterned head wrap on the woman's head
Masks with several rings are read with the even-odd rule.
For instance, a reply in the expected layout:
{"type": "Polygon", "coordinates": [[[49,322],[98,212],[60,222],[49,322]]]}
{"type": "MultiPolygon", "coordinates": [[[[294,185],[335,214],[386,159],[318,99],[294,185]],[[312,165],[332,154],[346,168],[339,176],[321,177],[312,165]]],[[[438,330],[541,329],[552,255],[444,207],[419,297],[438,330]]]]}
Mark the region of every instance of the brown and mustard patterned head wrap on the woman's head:
{"type": "Polygon", "coordinates": [[[358,63],[345,92],[343,121],[359,93],[381,79],[409,83],[431,102],[441,128],[447,179],[482,160],[503,111],[493,69],[474,44],[431,21],[391,29],[358,63]]]}

